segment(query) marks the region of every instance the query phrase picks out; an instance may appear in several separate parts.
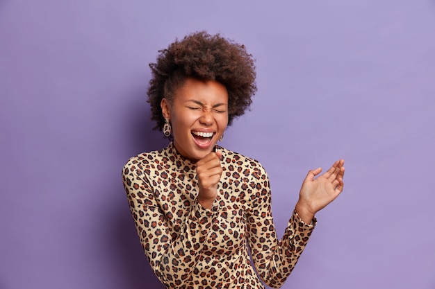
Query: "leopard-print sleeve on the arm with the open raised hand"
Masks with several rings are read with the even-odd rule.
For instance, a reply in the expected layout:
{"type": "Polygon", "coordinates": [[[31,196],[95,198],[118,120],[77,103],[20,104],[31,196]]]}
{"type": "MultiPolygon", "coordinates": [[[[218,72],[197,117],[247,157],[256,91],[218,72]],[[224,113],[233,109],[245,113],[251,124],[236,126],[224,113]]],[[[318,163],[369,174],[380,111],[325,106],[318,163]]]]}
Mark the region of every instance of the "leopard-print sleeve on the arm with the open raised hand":
{"type": "Polygon", "coordinates": [[[284,236],[277,240],[268,175],[262,166],[255,168],[252,175],[256,187],[249,200],[247,239],[259,276],[268,286],[279,288],[295,267],[314,226],[306,225],[293,211],[284,236]]]}

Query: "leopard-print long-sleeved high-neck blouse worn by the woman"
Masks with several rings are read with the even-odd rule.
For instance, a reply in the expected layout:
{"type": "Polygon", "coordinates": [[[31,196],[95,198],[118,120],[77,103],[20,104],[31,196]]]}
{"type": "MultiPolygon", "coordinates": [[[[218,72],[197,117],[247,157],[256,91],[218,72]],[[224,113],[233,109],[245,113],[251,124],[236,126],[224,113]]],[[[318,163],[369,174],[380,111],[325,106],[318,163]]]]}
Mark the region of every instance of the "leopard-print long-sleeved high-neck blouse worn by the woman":
{"type": "Polygon", "coordinates": [[[293,211],[277,240],[268,175],[258,161],[224,148],[212,209],[197,202],[195,164],[170,143],[132,157],[122,178],[147,259],[166,288],[279,288],[315,225],[293,211]]]}

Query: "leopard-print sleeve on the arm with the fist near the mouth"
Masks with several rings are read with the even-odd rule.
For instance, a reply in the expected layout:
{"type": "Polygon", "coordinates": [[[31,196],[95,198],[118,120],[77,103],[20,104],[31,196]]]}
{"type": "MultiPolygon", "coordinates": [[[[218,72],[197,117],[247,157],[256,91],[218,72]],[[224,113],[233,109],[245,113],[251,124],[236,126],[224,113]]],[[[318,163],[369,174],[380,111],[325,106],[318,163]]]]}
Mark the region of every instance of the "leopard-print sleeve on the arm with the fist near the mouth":
{"type": "MultiPolygon", "coordinates": [[[[167,288],[182,288],[190,278],[216,218],[216,213],[192,202],[186,221],[171,234],[170,216],[159,203],[152,182],[138,161],[131,159],[123,169],[123,182],[140,243],[158,279],[167,288]]],[[[167,200],[170,202],[170,200],[167,200]]],[[[177,213],[177,212],[174,212],[177,213]]]]}

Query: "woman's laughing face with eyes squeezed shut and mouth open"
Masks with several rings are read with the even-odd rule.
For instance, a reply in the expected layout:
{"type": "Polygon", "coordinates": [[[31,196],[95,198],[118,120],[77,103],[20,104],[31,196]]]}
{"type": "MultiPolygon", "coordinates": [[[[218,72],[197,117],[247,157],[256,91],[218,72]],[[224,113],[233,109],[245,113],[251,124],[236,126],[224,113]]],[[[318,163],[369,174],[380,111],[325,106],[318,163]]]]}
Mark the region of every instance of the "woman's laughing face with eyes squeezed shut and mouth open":
{"type": "Polygon", "coordinates": [[[188,78],[174,94],[161,101],[163,116],[170,119],[174,146],[187,159],[208,155],[228,124],[228,93],[220,82],[188,78]]]}

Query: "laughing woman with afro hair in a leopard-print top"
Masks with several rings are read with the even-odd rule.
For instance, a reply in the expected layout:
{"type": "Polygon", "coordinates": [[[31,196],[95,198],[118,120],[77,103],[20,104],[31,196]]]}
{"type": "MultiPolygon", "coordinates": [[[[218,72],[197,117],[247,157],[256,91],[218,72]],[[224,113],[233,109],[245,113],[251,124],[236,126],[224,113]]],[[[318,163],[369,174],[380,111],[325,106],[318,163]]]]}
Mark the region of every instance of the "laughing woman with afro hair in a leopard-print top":
{"type": "Polygon", "coordinates": [[[216,145],[252,102],[252,56],[205,32],[159,52],[148,101],[156,128],[173,141],[123,169],[151,268],[166,288],[264,288],[258,276],[279,288],[309,240],[315,213],[343,191],[343,160],[315,179],[321,168],[308,173],[278,240],[264,168],[216,145]]]}

